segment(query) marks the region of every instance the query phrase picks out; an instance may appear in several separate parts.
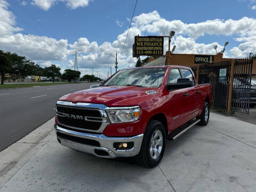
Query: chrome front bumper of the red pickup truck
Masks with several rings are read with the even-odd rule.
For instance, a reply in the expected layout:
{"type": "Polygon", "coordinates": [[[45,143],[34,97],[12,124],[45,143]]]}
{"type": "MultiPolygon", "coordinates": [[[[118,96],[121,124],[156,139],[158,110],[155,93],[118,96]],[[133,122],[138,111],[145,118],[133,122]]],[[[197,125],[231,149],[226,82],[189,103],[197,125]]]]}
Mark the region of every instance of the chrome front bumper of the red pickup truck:
{"type": "Polygon", "coordinates": [[[80,133],[76,131],[63,129],[58,125],[55,126],[55,130],[56,132],[60,132],[63,134],[98,141],[100,143],[100,147],[94,147],[94,146],[84,145],[82,143],[78,143],[75,141],[70,141],[62,137],[58,137],[57,135],[57,139],[59,140],[61,145],[69,147],[71,149],[82,151],[88,154],[92,154],[98,157],[103,157],[103,158],[132,157],[132,156],[138,155],[140,152],[140,147],[143,139],[143,133],[136,135],[134,137],[119,138],[119,137],[107,137],[103,134],[80,133]],[[127,150],[116,150],[113,147],[113,144],[115,142],[133,142],[134,146],[131,149],[127,149],[127,150]],[[96,154],[95,149],[106,151],[108,153],[108,156],[96,154]]]}

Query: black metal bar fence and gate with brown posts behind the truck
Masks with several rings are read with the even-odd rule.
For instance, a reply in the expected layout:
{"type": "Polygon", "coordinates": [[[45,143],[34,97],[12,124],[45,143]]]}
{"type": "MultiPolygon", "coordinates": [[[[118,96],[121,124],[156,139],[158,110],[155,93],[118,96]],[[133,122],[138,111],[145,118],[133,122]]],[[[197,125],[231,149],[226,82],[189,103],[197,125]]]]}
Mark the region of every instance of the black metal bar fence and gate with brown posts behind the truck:
{"type": "Polygon", "coordinates": [[[249,114],[252,63],[252,59],[238,59],[191,67],[198,84],[212,85],[212,111],[249,114]]]}

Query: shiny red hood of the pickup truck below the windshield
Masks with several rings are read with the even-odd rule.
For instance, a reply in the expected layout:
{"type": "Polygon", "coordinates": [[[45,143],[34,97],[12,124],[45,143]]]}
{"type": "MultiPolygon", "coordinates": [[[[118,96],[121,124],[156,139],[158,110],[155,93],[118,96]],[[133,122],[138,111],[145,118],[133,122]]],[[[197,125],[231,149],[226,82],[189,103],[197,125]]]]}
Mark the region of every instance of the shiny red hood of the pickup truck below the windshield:
{"type": "MultiPolygon", "coordinates": [[[[152,93],[152,92],[151,92],[152,93]]],[[[64,95],[59,100],[73,103],[99,103],[108,107],[135,106],[145,99],[155,98],[159,89],[137,86],[101,86],[64,95]],[[154,90],[153,94],[147,91],[154,90]]]]}

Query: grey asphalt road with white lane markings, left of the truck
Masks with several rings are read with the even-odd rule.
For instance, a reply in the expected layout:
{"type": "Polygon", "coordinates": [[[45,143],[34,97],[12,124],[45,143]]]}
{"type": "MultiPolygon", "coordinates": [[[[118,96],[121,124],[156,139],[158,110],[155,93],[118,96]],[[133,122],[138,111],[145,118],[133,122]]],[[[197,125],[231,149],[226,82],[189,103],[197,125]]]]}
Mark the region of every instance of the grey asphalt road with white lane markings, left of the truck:
{"type": "Polygon", "coordinates": [[[18,141],[55,114],[55,103],[67,93],[95,83],[0,89],[0,151],[18,141]]]}

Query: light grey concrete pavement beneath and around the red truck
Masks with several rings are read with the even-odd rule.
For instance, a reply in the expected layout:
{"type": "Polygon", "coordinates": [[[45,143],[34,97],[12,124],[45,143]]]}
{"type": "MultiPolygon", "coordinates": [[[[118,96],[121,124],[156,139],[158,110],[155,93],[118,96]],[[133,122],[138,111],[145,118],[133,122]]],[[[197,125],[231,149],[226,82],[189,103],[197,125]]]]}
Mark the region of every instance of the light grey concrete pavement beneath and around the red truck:
{"type": "Polygon", "coordinates": [[[256,125],[211,113],[145,169],[59,145],[54,119],[0,152],[0,191],[256,191],[256,125]],[[174,189],[174,190],[173,190],[174,189]]]}

